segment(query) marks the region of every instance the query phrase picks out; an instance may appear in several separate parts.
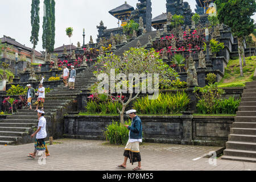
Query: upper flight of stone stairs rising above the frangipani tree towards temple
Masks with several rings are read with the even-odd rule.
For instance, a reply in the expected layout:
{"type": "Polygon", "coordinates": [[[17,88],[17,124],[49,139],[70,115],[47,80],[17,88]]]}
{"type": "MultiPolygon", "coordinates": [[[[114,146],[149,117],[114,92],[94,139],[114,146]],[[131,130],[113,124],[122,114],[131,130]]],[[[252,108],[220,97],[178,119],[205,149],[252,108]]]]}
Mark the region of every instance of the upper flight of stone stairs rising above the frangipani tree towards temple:
{"type": "Polygon", "coordinates": [[[147,32],[146,34],[143,34],[141,36],[138,36],[137,39],[132,40],[131,42],[127,43],[125,46],[119,48],[117,51],[114,52],[117,56],[123,56],[123,53],[125,51],[128,51],[130,47],[137,47],[138,40],[141,42],[141,47],[144,47],[148,43],[148,36],[152,37],[152,39],[156,36],[156,31],[147,32]]]}

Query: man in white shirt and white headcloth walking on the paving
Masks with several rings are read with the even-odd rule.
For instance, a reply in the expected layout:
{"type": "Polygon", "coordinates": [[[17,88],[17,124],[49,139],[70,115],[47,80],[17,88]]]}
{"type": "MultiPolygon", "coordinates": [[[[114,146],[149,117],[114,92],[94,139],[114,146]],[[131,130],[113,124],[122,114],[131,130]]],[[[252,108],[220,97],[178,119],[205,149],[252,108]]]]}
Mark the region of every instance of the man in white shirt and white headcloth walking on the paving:
{"type": "Polygon", "coordinates": [[[46,142],[44,139],[47,137],[46,133],[46,118],[44,118],[44,111],[38,111],[38,129],[31,135],[31,138],[35,137],[35,149],[32,155],[28,157],[35,159],[39,153],[43,152],[43,159],[46,159],[46,142]]]}

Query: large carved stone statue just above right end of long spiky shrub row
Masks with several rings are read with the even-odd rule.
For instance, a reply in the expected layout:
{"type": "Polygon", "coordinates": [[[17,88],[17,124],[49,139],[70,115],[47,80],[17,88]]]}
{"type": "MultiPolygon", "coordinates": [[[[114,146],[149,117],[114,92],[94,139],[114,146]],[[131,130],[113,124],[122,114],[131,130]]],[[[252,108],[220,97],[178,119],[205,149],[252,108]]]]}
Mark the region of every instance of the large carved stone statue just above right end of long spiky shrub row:
{"type": "Polygon", "coordinates": [[[193,61],[193,57],[188,57],[187,60],[187,85],[188,87],[198,86],[197,82],[197,73],[195,67],[195,61],[193,61]]]}

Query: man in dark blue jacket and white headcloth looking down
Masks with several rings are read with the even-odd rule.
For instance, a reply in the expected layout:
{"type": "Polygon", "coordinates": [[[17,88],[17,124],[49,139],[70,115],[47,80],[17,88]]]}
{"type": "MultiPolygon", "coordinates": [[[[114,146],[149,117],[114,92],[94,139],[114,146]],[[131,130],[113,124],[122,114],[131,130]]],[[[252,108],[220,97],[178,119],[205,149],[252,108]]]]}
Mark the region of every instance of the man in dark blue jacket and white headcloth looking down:
{"type": "Polygon", "coordinates": [[[136,115],[136,110],[132,109],[126,112],[129,114],[131,118],[131,126],[124,125],[127,129],[129,129],[129,140],[125,146],[125,152],[123,152],[123,156],[125,156],[125,160],[121,165],[117,167],[126,168],[127,159],[130,159],[130,163],[138,162],[138,166],[133,170],[140,170],[141,168],[141,153],[139,152],[139,143],[142,142],[142,123],[141,119],[136,115]]]}

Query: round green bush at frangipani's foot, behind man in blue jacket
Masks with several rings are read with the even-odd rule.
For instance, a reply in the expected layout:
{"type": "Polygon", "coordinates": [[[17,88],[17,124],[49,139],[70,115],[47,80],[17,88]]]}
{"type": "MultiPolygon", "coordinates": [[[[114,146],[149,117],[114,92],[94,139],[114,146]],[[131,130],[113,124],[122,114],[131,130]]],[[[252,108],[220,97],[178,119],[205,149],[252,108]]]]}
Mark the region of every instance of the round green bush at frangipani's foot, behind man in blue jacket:
{"type": "MultiPolygon", "coordinates": [[[[126,121],[125,125],[131,125],[131,121],[126,121]]],[[[106,127],[104,137],[106,140],[109,140],[110,144],[125,145],[129,139],[129,130],[127,130],[121,123],[113,121],[111,125],[106,127]]]]}

